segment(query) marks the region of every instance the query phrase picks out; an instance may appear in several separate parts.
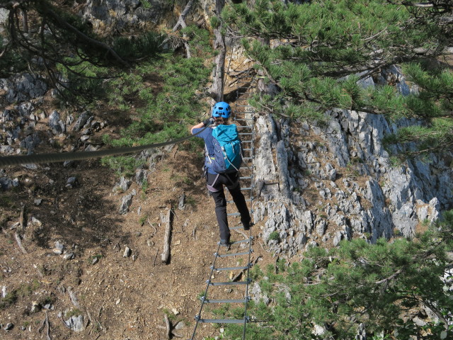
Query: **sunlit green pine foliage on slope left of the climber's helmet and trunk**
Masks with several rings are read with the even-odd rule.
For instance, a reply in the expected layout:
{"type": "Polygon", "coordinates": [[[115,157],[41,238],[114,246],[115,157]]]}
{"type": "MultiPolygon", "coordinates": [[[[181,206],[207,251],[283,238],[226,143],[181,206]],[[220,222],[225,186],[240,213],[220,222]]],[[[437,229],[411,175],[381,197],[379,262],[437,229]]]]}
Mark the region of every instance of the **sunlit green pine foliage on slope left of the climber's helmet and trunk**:
{"type": "MultiPolygon", "coordinates": [[[[129,102],[132,96],[139,99],[140,105],[134,108],[137,115],[132,124],[121,130],[120,139],[111,140],[105,136],[105,142],[113,147],[125,147],[185,137],[188,126],[206,111],[199,94],[211,72],[210,67],[205,65],[206,59],[213,55],[209,45],[210,35],[207,30],[195,26],[188,26],[180,34],[188,39],[192,57],[164,53],[159,58],[137,64],[132,72],[108,82],[111,105],[124,111],[131,110],[129,102]],[[149,84],[144,86],[149,77],[158,81],[158,90],[149,84]]],[[[188,147],[191,143],[197,141],[187,142],[188,147]]],[[[117,169],[115,162],[124,163],[114,157],[107,164],[117,169]]]]}

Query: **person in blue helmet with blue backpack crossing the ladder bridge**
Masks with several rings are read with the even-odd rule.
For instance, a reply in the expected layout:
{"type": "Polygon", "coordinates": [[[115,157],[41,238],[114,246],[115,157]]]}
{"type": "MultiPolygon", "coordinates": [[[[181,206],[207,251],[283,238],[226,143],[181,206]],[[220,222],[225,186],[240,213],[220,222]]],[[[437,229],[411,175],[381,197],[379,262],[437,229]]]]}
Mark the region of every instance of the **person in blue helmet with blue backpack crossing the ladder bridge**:
{"type": "Polygon", "coordinates": [[[242,162],[241,141],[236,125],[229,124],[231,107],[223,101],[212,108],[212,117],[194,125],[190,132],[205,140],[205,176],[207,189],[215,203],[215,215],[220,229],[220,244],[229,246],[230,230],[226,215],[224,186],[233,197],[241,214],[244,230],[251,227],[251,217],[239,184],[239,168],[242,162]],[[213,127],[210,127],[213,125],[213,127]]]}

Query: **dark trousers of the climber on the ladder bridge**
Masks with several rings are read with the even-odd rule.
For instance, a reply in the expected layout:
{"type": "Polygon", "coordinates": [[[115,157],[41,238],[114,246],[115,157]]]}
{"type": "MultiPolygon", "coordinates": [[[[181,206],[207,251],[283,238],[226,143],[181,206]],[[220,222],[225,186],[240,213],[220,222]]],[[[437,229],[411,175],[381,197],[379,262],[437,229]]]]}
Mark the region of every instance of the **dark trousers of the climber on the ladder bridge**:
{"type": "Polygon", "coordinates": [[[229,242],[230,232],[228,227],[228,219],[226,216],[226,198],[224,193],[224,186],[228,188],[229,193],[233,197],[234,204],[241,214],[241,222],[244,226],[251,223],[250,213],[246,199],[241,193],[241,185],[239,184],[239,174],[210,174],[207,173],[207,189],[212,193],[215,203],[215,215],[220,229],[220,239],[229,242]]]}

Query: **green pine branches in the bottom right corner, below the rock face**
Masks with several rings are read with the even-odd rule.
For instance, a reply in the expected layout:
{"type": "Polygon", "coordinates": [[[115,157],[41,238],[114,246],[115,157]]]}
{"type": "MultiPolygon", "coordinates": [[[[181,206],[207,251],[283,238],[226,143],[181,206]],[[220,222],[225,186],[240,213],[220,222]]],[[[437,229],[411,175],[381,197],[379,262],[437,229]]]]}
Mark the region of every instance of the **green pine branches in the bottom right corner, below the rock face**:
{"type": "MultiPolygon", "coordinates": [[[[355,239],[331,250],[312,247],[289,266],[255,269],[254,279],[271,302],[252,305],[256,323],[248,332],[265,327],[261,340],[355,339],[365,324],[370,339],[452,339],[453,282],[445,275],[452,235],[450,210],[413,240],[355,239]],[[437,319],[420,326],[413,318],[423,308],[437,319]]],[[[236,339],[238,331],[229,327],[226,334],[236,339]]]]}

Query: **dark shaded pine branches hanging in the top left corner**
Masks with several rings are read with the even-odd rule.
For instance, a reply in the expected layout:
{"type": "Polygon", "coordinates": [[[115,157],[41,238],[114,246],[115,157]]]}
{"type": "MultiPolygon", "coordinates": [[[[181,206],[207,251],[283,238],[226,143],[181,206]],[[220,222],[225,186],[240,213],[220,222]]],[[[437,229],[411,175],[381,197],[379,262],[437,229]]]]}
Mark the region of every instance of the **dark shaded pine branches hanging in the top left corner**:
{"type": "Polygon", "coordinates": [[[159,33],[104,37],[77,15],[73,5],[74,1],[1,1],[0,8],[8,11],[6,36],[0,40],[0,65],[8,67],[1,73],[44,69],[61,94],[91,97],[102,79],[117,77],[161,51],[159,33]]]}

